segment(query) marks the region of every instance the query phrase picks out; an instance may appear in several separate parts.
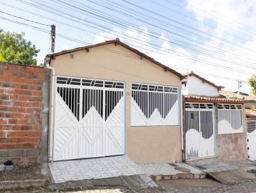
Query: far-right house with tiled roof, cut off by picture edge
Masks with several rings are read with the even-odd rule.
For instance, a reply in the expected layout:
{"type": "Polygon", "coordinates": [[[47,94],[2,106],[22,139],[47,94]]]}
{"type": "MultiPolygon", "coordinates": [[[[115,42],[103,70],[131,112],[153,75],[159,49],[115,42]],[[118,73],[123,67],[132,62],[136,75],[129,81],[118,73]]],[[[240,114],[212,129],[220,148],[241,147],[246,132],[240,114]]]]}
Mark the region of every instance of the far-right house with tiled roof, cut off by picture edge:
{"type": "Polygon", "coordinates": [[[226,90],[221,90],[220,94],[227,98],[240,99],[244,101],[248,158],[256,160],[256,96],[248,95],[246,93],[237,94],[237,92],[226,90]]]}

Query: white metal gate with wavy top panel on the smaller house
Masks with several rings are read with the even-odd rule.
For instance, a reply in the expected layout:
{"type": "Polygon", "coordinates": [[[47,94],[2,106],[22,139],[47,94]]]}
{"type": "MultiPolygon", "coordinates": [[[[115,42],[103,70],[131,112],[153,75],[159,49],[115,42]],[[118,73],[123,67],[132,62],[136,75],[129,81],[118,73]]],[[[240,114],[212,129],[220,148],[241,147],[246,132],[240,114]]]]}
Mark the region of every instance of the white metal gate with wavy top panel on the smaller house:
{"type": "Polygon", "coordinates": [[[185,105],[186,158],[215,155],[214,105],[185,105]]]}

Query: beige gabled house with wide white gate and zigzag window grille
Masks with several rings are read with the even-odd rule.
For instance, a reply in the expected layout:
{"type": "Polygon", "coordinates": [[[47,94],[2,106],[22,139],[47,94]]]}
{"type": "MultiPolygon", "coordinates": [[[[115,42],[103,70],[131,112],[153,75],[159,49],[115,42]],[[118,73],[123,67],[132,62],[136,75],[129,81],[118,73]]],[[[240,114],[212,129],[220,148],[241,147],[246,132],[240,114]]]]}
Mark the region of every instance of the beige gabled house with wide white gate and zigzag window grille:
{"type": "Polygon", "coordinates": [[[180,73],[118,39],[45,61],[56,77],[49,160],[125,154],[136,163],[182,161],[180,73]]]}

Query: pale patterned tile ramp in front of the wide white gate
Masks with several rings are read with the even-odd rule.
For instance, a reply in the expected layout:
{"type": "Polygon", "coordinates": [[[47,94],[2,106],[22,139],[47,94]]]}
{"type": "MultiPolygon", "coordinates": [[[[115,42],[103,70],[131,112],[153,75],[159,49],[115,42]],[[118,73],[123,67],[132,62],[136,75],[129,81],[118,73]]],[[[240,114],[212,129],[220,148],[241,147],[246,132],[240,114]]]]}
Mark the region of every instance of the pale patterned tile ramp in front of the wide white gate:
{"type": "Polygon", "coordinates": [[[53,162],[49,168],[54,183],[145,174],[125,155],[53,162]]]}

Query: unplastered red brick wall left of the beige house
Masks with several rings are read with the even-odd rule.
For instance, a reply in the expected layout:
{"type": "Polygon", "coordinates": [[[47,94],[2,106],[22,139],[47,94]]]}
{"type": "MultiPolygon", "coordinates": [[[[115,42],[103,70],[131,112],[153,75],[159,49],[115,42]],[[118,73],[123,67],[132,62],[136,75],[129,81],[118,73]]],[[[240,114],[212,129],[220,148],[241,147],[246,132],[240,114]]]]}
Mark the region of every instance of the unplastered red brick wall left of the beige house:
{"type": "Polygon", "coordinates": [[[0,63],[0,162],[47,160],[49,72],[0,63]]]}

